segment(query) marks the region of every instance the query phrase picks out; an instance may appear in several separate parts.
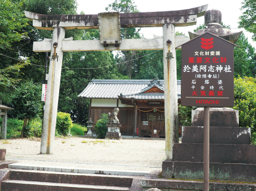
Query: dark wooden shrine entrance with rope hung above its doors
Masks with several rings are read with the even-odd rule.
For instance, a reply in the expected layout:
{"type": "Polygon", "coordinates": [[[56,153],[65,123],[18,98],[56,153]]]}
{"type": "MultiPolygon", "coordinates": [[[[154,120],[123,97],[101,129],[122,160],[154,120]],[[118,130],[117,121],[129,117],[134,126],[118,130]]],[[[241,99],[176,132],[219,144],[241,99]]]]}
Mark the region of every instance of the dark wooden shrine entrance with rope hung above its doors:
{"type": "Polygon", "coordinates": [[[164,109],[138,108],[139,137],[165,137],[164,109]]]}

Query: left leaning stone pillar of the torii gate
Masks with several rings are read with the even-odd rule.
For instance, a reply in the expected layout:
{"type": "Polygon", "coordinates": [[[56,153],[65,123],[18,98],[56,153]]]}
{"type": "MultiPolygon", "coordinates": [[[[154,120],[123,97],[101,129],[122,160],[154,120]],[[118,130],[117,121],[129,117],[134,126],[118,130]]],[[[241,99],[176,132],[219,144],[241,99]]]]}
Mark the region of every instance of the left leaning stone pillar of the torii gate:
{"type": "Polygon", "coordinates": [[[42,128],[42,141],[40,154],[53,153],[53,141],[55,138],[57,107],[59,101],[60,75],[62,66],[62,44],[65,37],[65,29],[55,27],[51,41],[51,60],[49,62],[49,76],[44,109],[44,121],[42,128]]]}

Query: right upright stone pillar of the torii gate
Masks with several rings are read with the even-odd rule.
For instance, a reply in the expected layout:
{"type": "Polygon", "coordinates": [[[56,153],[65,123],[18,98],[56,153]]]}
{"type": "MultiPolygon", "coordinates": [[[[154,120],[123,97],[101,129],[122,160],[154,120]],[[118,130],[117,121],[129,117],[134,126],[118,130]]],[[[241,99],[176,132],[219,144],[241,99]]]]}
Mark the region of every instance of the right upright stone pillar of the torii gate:
{"type": "Polygon", "coordinates": [[[164,24],[163,26],[163,47],[166,160],[172,160],[173,142],[179,141],[174,24],[164,24]],[[170,46],[167,45],[168,40],[172,42],[170,46]],[[173,58],[167,58],[167,53],[172,53],[173,58]]]}

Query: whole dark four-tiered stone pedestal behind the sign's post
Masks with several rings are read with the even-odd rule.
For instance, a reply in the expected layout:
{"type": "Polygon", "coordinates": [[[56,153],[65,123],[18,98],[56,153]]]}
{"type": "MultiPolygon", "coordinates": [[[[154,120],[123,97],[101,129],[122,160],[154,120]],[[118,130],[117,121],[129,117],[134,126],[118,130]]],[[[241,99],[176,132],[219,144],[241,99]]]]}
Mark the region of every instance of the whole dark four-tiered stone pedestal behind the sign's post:
{"type": "MultiPolygon", "coordinates": [[[[210,108],[210,180],[255,182],[256,146],[250,128],[238,126],[238,111],[210,108]]],[[[183,126],[182,143],[174,143],[173,159],[165,160],[165,178],[204,179],[204,108],[192,111],[192,126],[183,126]]]]}

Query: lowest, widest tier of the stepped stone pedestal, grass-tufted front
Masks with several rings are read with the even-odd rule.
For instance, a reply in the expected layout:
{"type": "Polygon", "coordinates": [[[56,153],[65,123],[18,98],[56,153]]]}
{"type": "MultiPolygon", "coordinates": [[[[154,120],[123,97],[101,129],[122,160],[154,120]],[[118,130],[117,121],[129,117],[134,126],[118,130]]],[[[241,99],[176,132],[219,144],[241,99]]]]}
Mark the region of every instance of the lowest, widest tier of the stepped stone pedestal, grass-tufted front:
{"type": "MultiPolygon", "coordinates": [[[[209,180],[254,182],[254,189],[256,188],[255,173],[256,164],[210,163],[209,166],[209,180]]],[[[203,180],[204,163],[172,162],[164,160],[162,177],[187,180],[203,180]]],[[[229,188],[224,190],[240,189],[229,188]]]]}

